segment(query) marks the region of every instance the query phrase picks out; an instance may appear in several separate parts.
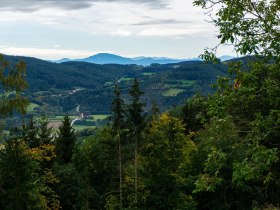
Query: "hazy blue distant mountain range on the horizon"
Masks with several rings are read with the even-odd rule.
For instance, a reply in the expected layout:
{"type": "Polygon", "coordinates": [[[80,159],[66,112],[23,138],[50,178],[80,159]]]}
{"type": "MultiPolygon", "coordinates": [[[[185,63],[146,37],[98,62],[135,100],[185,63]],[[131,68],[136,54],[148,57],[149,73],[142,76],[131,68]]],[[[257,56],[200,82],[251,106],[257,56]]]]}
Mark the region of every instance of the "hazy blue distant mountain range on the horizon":
{"type": "MultiPolygon", "coordinates": [[[[234,57],[232,56],[222,56],[220,59],[222,61],[230,60],[234,57]]],[[[68,59],[63,58],[60,60],[55,60],[55,63],[64,63],[69,61],[79,61],[79,62],[87,62],[87,63],[95,63],[95,64],[136,64],[136,65],[143,65],[148,66],[153,63],[158,64],[168,64],[168,63],[179,63],[183,61],[200,61],[200,58],[192,58],[192,59],[172,59],[172,58],[165,58],[165,57],[135,57],[135,58],[126,58],[115,54],[110,53],[99,53],[87,58],[82,59],[68,59]]]]}

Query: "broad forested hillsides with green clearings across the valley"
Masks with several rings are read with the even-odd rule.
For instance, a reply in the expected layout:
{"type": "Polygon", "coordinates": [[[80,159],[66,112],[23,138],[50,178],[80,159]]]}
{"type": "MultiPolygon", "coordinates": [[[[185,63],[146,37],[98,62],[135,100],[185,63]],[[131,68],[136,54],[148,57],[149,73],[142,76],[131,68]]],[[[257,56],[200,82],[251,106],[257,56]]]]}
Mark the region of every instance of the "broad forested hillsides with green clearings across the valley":
{"type": "MultiPolygon", "coordinates": [[[[82,110],[109,112],[114,85],[120,85],[123,97],[127,100],[128,89],[134,78],[141,82],[148,108],[154,99],[162,110],[166,110],[182,104],[195,93],[211,93],[217,76],[227,74],[227,66],[222,63],[214,65],[200,61],[152,64],[144,67],[86,62],[58,64],[30,57],[5,58],[11,63],[24,60],[27,64],[28,94],[31,102],[65,112],[75,109],[77,104],[81,104],[82,110]],[[67,94],[75,89],[81,91],[67,94]]],[[[46,107],[44,109],[46,110],[46,107]]]]}

